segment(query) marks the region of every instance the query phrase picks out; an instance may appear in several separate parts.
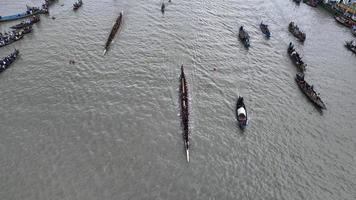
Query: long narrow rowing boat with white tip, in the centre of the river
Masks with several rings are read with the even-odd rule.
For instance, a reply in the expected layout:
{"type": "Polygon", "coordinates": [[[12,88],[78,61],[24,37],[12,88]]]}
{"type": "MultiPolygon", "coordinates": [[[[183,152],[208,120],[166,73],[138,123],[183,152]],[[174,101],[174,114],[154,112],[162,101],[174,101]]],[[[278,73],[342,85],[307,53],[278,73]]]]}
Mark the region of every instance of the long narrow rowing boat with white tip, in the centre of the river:
{"type": "Polygon", "coordinates": [[[181,66],[179,94],[180,94],[181,118],[182,118],[182,126],[183,126],[184,148],[187,155],[187,162],[189,162],[188,86],[187,86],[187,81],[185,79],[183,65],[181,66]]]}

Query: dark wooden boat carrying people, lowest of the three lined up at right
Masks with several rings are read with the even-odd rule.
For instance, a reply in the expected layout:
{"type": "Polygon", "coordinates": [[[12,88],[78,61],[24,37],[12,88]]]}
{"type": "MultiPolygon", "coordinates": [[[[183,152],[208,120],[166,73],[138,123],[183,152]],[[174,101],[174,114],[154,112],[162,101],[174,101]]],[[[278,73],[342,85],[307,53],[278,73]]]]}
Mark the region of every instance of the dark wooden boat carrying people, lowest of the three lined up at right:
{"type": "Polygon", "coordinates": [[[321,109],[326,109],[326,106],[324,102],[320,99],[319,95],[314,91],[314,87],[310,86],[305,80],[304,80],[304,74],[303,73],[298,73],[296,75],[295,80],[297,81],[297,84],[299,88],[303,91],[303,93],[319,108],[321,109]]]}

